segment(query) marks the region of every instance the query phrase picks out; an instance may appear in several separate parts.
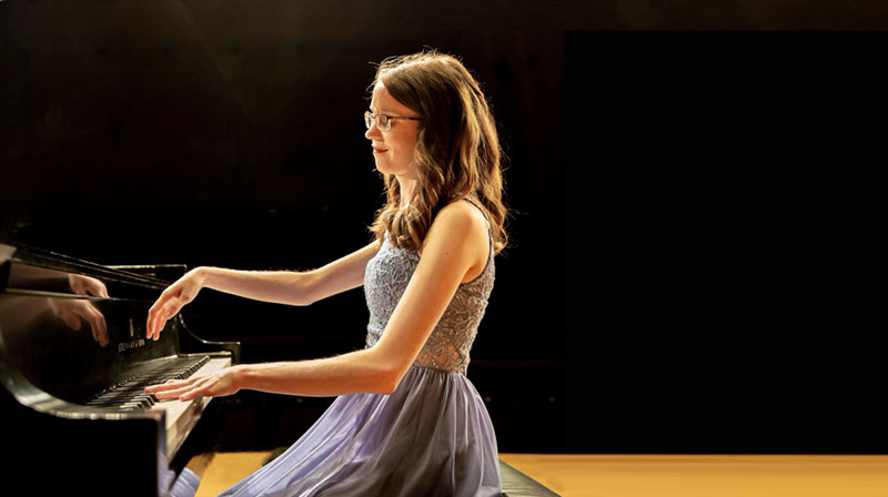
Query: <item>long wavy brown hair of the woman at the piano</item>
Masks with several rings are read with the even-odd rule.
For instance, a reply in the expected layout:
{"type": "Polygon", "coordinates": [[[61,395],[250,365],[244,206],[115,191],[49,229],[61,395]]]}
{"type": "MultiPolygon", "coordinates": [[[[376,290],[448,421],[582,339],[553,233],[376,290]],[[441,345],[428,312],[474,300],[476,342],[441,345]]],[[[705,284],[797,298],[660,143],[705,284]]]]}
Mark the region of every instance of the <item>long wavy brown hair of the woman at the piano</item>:
{"type": "Polygon", "coordinates": [[[472,195],[486,211],[494,251],[502,251],[508,241],[503,153],[478,82],[457,59],[435,50],[385,59],[370,89],[379,82],[422,121],[413,153],[420,176],[414,197],[408,207],[400,209],[397,179],[383,174],[387,201],[371,226],[376,240],[387,231],[395,246],[418,251],[437,212],[472,195]]]}

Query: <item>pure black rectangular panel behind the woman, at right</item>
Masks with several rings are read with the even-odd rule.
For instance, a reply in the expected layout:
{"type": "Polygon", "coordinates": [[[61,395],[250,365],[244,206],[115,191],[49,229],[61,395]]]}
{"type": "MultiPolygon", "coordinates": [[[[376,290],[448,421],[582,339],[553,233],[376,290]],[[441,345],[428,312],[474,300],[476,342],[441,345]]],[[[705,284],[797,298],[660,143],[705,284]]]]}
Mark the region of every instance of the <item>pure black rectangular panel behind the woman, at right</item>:
{"type": "Polygon", "coordinates": [[[888,37],[565,40],[567,425],[604,453],[885,452],[852,231],[888,37]]]}

